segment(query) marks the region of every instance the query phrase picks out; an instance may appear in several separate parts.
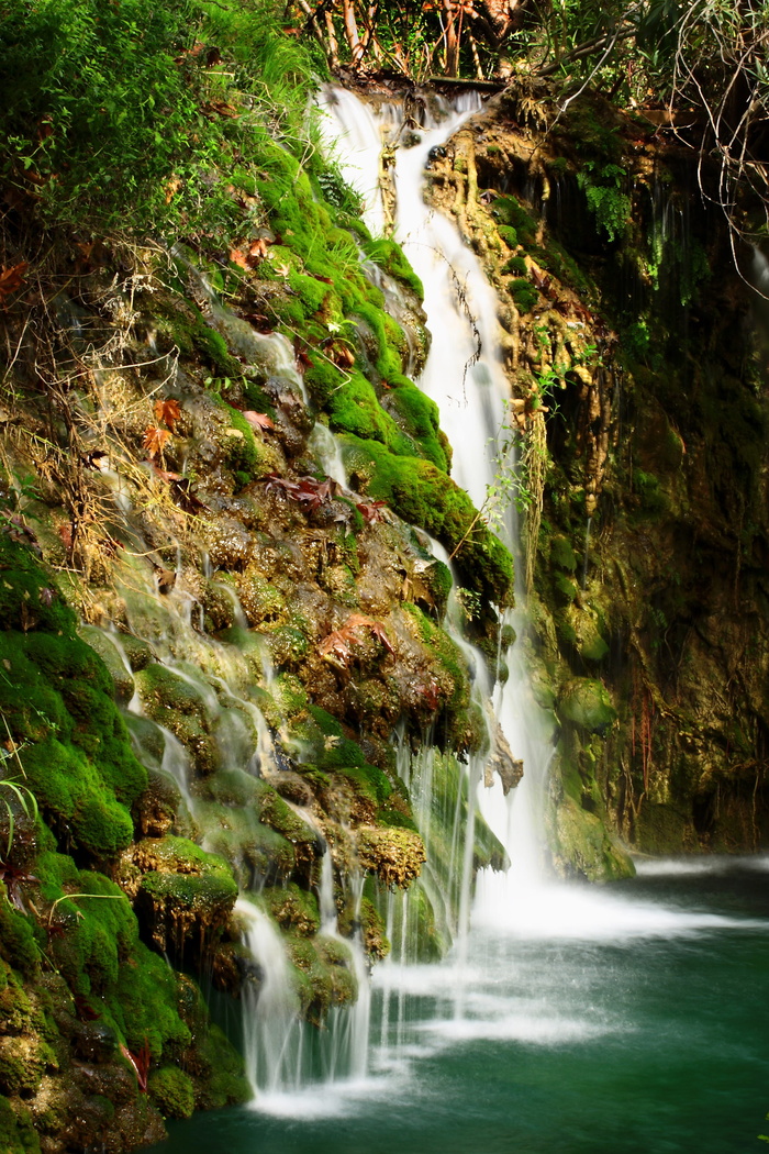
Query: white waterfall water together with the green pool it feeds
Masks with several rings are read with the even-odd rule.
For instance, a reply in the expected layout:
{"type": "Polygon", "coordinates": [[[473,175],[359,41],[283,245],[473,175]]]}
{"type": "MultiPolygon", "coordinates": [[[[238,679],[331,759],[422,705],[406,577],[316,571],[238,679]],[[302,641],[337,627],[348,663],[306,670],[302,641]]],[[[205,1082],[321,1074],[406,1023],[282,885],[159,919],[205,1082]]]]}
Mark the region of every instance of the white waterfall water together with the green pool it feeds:
{"type": "MultiPolygon", "coordinates": [[[[399,150],[395,237],[423,280],[432,332],[419,384],[439,405],[454,478],[481,505],[496,470],[508,392],[497,302],[454,225],[422,195],[430,150],[477,107],[477,97],[463,100],[435,120],[428,115],[420,143],[399,150]]],[[[400,110],[377,111],[349,92],[326,93],[324,106],[342,171],[365,195],[369,223],[380,228],[378,156],[383,132],[398,132],[400,110]]],[[[318,441],[344,484],[327,430],[318,441]]],[[[512,518],[503,532],[514,547],[512,518]]],[[[517,613],[520,631],[525,622],[517,613]]],[[[442,900],[445,879],[430,868],[420,882],[446,931],[457,934],[452,953],[439,964],[416,964],[406,899],[393,894],[393,958],[372,976],[370,1028],[364,1001],[356,1025],[348,1024],[345,1059],[337,1065],[327,1048],[316,1052],[308,1077],[301,1051],[317,1039],[308,1042],[286,1003],[274,930],[244,906],[251,951],[271,975],[258,1002],[247,1003],[247,1013],[261,1022],[248,1054],[257,1096],[248,1108],[180,1124],[158,1154],[753,1148],[769,1107],[767,860],[657,863],[606,891],[550,878],[541,830],[552,747],[522,659],[513,650],[507,660],[504,687],[485,683],[483,662],[475,662],[476,691],[493,700],[525,778],[505,797],[500,784],[478,788],[482,766],[470,766],[469,797],[474,802],[477,793],[511,869],[481,875],[470,914],[472,803],[469,833],[457,825],[450,839],[459,901],[442,900]],[[452,905],[459,924],[450,927],[452,905]],[[361,1050],[364,1032],[368,1057],[361,1050]]],[[[425,748],[414,757],[401,743],[399,770],[428,841],[436,756],[425,748]]],[[[330,855],[324,861],[319,897],[324,932],[333,935],[330,855]]]]}

